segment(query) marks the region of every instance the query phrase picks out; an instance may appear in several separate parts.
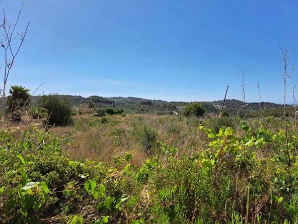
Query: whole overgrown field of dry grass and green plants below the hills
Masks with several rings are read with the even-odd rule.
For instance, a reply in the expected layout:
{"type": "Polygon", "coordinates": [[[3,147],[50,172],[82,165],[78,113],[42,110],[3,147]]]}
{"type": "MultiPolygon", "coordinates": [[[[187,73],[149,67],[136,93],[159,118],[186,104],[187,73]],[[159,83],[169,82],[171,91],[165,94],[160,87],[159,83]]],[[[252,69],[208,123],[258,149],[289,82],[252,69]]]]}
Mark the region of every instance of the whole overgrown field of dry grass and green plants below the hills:
{"type": "Polygon", "coordinates": [[[3,223],[296,223],[296,126],[282,119],[93,114],[6,122],[3,223]],[[287,142],[288,141],[288,142],[287,142]]]}

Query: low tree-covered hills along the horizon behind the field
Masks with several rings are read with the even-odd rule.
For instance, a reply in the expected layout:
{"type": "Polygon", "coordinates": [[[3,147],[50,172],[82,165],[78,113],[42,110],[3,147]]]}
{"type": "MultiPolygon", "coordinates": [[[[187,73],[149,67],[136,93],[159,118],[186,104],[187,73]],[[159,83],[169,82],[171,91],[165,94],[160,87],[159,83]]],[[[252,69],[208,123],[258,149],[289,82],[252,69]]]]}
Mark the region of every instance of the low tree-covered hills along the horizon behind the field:
{"type": "MultiPolygon", "coordinates": [[[[100,96],[73,96],[73,95],[59,95],[61,98],[67,97],[75,107],[87,107],[88,101],[93,101],[96,108],[114,107],[116,109],[123,109],[129,113],[157,113],[166,114],[171,111],[181,112],[183,109],[190,104],[189,102],[167,102],[162,100],[148,100],[137,97],[109,97],[104,98],[100,96]]],[[[32,96],[32,105],[36,105],[38,96],[32,96]]],[[[204,105],[208,113],[218,114],[222,108],[223,100],[212,101],[212,102],[200,102],[204,105]]],[[[1,105],[1,108],[5,105],[1,105]]],[[[274,104],[269,102],[262,102],[263,110],[282,109],[283,105],[274,104]]],[[[290,107],[290,106],[288,106],[290,107]]],[[[260,103],[246,103],[242,101],[229,99],[225,101],[224,110],[230,114],[241,114],[244,110],[247,112],[258,112],[260,111],[260,103]]],[[[282,111],[281,111],[282,112],[282,111]]],[[[280,113],[280,112],[279,112],[280,113]]]]}

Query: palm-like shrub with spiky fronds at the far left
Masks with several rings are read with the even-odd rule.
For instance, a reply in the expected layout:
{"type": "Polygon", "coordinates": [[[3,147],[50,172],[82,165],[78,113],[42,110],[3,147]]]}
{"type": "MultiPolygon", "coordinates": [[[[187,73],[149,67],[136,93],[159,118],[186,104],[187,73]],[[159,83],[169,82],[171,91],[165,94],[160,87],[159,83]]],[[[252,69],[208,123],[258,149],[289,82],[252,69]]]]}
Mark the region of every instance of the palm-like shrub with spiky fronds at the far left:
{"type": "Polygon", "coordinates": [[[13,120],[21,119],[21,112],[26,110],[30,105],[29,89],[22,86],[11,86],[9,96],[7,97],[7,113],[13,120]]]}

